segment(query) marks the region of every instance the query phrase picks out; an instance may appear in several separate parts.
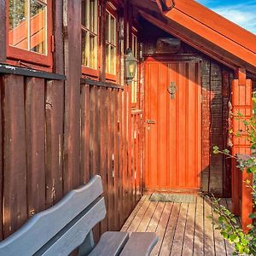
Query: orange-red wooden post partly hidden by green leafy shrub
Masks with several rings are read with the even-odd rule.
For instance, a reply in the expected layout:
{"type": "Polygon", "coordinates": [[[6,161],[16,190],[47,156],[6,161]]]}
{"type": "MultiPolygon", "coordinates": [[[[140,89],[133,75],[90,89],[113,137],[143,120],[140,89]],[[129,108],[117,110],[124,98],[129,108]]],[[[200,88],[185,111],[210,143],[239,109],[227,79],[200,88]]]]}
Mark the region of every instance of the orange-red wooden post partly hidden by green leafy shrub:
{"type": "MultiPolygon", "coordinates": [[[[253,102],[252,102],[252,81],[245,79],[245,73],[238,71],[238,79],[233,81],[233,113],[236,117],[237,113],[242,113],[245,119],[249,119],[252,114],[253,102]]],[[[233,129],[236,133],[237,130],[244,130],[244,125],[240,124],[236,118],[233,118],[233,129]]],[[[250,145],[246,141],[245,137],[241,137],[239,140],[233,137],[233,154],[251,154],[250,145]]],[[[251,174],[247,174],[246,170],[242,173],[236,168],[236,161],[232,162],[232,200],[233,200],[233,212],[238,214],[241,212],[241,226],[242,229],[247,231],[247,225],[252,223],[252,219],[248,218],[249,214],[253,212],[253,195],[251,189],[247,188],[244,183],[245,180],[252,182],[253,177],[251,174]],[[239,189],[241,188],[241,190],[239,189]],[[240,195],[241,194],[241,205],[240,195]]]]}

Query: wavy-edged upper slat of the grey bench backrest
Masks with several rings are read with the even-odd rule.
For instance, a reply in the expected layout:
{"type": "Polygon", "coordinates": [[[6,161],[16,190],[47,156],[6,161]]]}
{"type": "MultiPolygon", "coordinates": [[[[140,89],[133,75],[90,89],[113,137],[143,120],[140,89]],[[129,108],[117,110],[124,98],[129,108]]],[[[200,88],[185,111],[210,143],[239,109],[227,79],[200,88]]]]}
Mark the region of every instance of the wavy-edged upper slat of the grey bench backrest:
{"type": "MultiPolygon", "coordinates": [[[[79,189],[73,189],[54,207],[37,213],[20,230],[1,241],[0,255],[28,256],[36,253],[73,218],[102,195],[102,192],[102,178],[100,176],[93,177],[89,183],[79,189]]],[[[101,209],[103,210],[103,208],[101,209]]],[[[105,214],[105,209],[101,213],[105,214]]],[[[94,223],[96,219],[92,218],[91,221],[94,223]]],[[[86,234],[83,234],[83,236],[86,236],[86,234]]]]}

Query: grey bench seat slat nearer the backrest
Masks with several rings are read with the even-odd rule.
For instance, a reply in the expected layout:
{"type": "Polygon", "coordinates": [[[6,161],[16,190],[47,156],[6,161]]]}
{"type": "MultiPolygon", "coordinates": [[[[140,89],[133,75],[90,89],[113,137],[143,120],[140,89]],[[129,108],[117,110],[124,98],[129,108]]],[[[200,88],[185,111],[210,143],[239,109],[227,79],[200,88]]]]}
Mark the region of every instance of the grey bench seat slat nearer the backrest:
{"type": "Polygon", "coordinates": [[[116,256],[119,255],[129,239],[127,232],[105,232],[96,247],[88,256],[116,256]]]}

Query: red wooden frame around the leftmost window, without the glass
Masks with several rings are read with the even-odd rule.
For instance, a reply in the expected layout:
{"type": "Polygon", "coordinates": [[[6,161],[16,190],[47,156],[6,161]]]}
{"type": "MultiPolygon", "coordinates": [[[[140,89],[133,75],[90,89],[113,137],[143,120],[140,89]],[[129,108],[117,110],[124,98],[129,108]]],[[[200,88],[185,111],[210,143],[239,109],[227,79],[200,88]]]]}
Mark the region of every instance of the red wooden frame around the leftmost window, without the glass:
{"type": "MultiPolygon", "coordinates": [[[[37,69],[52,71],[53,53],[52,53],[52,32],[53,32],[53,15],[52,0],[47,1],[47,55],[41,55],[26,49],[15,48],[9,45],[9,0],[6,1],[6,55],[7,62],[19,65],[20,61],[27,63],[29,67],[37,67],[37,69]],[[32,65],[30,65],[32,64],[32,65]],[[42,68],[41,68],[42,66],[42,68]]],[[[19,65],[22,67],[22,65],[19,65]]],[[[26,65],[24,65],[26,66],[26,65]]]]}

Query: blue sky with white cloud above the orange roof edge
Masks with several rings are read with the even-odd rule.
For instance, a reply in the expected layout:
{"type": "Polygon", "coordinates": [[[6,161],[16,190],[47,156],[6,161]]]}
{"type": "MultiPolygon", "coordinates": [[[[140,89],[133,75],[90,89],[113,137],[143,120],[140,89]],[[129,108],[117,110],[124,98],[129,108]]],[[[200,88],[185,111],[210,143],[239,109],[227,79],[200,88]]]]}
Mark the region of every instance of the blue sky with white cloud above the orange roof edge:
{"type": "Polygon", "coordinates": [[[256,34],[256,0],[197,0],[197,2],[256,34]]]}

